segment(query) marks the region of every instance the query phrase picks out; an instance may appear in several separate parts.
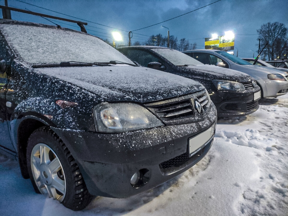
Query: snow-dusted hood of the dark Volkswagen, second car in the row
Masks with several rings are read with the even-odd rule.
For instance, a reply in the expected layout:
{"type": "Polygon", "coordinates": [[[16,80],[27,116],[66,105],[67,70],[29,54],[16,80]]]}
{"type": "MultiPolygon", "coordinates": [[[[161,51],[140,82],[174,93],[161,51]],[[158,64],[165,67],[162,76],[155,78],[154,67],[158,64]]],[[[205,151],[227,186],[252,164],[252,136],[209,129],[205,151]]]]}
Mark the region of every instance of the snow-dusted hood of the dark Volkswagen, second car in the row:
{"type": "Polygon", "coordinates": [[[227,79],[240,82],[248,82],[252,79],[248,74],[215,65],[191,65],[187,68],[192,70],[195,69],[193,70],[194,73],[201,74],[201,76],[207,76],[208,79],[227,79]]]}

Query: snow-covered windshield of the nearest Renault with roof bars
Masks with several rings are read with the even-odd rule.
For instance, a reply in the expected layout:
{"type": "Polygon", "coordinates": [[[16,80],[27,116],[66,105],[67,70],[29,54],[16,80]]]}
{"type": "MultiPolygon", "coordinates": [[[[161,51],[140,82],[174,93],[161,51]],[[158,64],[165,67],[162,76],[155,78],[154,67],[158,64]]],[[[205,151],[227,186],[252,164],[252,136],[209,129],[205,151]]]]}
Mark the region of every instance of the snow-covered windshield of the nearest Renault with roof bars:
{"type": "Polygon", "coordinates": [[[109,62],[134,64],[101,39],[81,32],[27,25],[0,25],[12,49],[31,64],[109,62]]]}

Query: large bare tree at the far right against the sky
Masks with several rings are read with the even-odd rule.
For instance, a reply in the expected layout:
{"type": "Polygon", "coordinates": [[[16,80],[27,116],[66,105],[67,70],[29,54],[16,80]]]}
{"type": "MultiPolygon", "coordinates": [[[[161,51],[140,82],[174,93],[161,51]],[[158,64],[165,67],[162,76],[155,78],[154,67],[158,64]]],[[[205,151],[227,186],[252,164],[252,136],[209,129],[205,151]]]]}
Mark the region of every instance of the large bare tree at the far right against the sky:
{"type": "Polygon", "coordinates": [[[268,60],[283,58],[285,51],[287,51],[287,28],[283,23],[273,22],[266,23],[257,29],[258,37],[260,39],[260,46],[267,46],[263,50],[263,54],[268,56],[268,60]]]}

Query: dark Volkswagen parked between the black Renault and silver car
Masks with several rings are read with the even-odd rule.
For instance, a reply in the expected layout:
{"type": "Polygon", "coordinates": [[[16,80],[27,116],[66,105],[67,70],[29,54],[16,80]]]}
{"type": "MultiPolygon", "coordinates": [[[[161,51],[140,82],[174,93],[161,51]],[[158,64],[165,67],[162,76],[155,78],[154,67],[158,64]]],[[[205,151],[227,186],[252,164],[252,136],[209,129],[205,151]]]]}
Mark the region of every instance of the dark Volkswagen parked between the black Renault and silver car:
{"type": "Polygon", "coordinates": [[[131,46],[118,50],[142,66],[202,83],[217,108],[218,117],[245,116],[259,108],[260,88],[247,74],[204,65],[177,50],[165,47],[131,46]]]}

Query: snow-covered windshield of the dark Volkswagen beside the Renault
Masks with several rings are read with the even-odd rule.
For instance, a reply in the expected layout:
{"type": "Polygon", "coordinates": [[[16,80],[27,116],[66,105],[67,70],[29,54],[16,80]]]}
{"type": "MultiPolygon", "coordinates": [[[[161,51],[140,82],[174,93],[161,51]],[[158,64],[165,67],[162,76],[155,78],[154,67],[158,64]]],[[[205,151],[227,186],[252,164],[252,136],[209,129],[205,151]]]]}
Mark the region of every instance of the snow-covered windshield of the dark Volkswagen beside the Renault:
{"type": "Polygon", "coordinates": [[[172,64],[175,65],[202,65],[203,63],[197,61],[196,59],[187,56],[184,53],[181,53],[180,51],[177,51],[175,49],[163,49],[163,48],[153,48],[153,51],[160,54],[164,58],[166,58],[168,61],[170,61],[172,64]]]}

